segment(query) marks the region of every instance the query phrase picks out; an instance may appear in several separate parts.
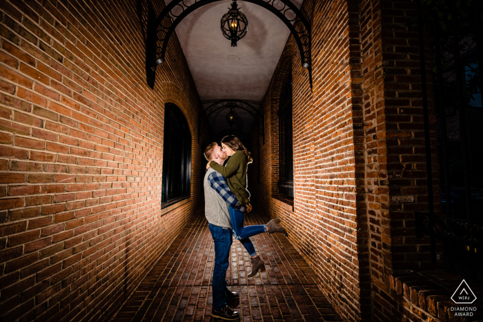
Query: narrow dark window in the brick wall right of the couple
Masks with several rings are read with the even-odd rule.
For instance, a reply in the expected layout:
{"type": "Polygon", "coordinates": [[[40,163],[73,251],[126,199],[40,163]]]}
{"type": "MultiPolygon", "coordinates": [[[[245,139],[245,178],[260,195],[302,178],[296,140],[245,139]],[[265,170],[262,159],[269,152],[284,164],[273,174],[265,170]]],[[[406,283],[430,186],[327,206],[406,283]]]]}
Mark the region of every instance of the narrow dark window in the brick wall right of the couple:
{"type": "Polygon", "coordinates": [[[282,196],[293,198],[293,131],[292,73],[286,75],[280,94],[279,117],[279,181],[282,196]]]}

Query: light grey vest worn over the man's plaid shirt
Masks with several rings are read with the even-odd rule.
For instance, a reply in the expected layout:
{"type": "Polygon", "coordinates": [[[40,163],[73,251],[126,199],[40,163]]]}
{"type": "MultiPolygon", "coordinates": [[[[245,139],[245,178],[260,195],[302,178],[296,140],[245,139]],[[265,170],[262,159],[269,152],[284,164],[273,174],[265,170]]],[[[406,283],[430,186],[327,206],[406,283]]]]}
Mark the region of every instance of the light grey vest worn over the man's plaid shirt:
{"type": "Polygon", "coordinates": [[[205,177],[203,179],[204,192],[205,192],[205,216],[208,223],[212,225],[230,228],[230,213],[228,212],[228,203],[226,203],[223,198],[211,188],[208,176],[211,172],[214,172],[212,168],[206,171],[205,177]]]}

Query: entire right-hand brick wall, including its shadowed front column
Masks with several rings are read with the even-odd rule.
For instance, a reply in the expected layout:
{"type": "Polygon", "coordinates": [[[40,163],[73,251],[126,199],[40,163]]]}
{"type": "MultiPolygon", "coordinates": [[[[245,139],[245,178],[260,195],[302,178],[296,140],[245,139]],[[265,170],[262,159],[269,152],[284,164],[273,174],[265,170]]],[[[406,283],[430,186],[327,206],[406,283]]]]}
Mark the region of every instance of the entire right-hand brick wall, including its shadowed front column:
{"type": "Polygon", "coordinates": [[[405,312],[391,292],[393,272],[431,268],[413,221],[427,209],[419,48],[408,26],[415,3],[304,1],[302,11],[312,25],[312,92],[298,50],[289,52],[293,37],[284,52],[293,61],[293,208],[276,195],[277,71],[264,99],[270,136],[257,140],[254,202],[282,219],[346,321],[395,321],[405,312]]]}

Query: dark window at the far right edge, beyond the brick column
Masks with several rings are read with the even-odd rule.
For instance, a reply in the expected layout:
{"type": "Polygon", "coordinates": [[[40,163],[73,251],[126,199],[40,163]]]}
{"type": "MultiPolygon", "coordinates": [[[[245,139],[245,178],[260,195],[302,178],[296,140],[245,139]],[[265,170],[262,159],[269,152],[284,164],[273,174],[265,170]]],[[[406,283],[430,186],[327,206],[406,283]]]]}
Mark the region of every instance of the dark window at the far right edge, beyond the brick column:
{"type": "MultiPolygon", "coordinates": [[[[464,40],[470,45],[467,47],[476,46],[471,38],[464,40]]],[[[442,165],[442,212],[449,218],[445,223],[451,235],[445,240],[444,263],[450,272],[481,283],[483,262],[477,255],[481,243],[474,241],[479,240],[478,231],[483,227],[480,165],[483,109],[480,83],[475,77],[479,71],[477,50],[461,47],[466,51],[460,54],[459,61],[445,62],[441,79],[435,78],[438,81],[436,90],[441,91],[437,97],[440,108],[437,133],[442,165]]]]}

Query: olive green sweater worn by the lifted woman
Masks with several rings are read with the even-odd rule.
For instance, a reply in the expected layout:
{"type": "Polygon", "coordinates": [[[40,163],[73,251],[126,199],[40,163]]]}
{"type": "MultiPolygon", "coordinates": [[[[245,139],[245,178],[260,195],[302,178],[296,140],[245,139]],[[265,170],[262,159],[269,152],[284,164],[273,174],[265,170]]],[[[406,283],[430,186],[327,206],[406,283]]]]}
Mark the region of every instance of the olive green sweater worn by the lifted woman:
{"type": "Polygon", "coordinates": [[[237,151],[226,163],[226,166],[219,165],[215,161],[210,162],[210,168],[223,174],[228,181],[228,187],[237,196],[240,205],[250,203],[250,192],[246,190],[246,166],[248,157],[244,152],[237,151]]]}

